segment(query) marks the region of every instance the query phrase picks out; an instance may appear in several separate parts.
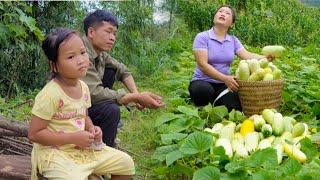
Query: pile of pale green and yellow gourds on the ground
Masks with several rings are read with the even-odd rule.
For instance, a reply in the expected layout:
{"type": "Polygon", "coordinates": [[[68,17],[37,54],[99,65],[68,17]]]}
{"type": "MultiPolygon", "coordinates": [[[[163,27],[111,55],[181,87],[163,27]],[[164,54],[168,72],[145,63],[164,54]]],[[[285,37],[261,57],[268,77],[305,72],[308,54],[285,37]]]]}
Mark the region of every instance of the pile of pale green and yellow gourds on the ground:
{"type": "Polygon", "coordinates": [[[239,124],[232,121],[216,123],[204,131],[212,134],[215,146],[222,146],[230,159],[247,158],[257,150],[274,148],[279,164],[286,156],[306,162],[299,141],[311,137],[306,123],[282,116],[274,109],[264,109],[262,114],[252,115],[239,124]]]}

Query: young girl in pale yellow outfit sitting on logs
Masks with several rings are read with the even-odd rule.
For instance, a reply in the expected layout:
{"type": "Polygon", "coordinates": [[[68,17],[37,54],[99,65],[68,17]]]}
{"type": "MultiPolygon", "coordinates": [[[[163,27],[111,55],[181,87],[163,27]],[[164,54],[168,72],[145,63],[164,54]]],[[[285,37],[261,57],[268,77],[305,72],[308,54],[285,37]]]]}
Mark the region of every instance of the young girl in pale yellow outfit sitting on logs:
{"type": "Polygon", "coordinates": [[[102,145],[101,129],[87,116],[90,92],[79,80],[86,74],[89,58],[82,39],[70,29],[57,29],[43,42],[53,78],[35,98],[29,139],[32,151],[32,177],[37,172],[48,179],[87,179],[92,173],[111,179],[131,179],[132,158],[102,145]],[[95,143],[94,143],[95,144],[95,143]],[[94,146],[93,146],[94,147],[94,146]]]}

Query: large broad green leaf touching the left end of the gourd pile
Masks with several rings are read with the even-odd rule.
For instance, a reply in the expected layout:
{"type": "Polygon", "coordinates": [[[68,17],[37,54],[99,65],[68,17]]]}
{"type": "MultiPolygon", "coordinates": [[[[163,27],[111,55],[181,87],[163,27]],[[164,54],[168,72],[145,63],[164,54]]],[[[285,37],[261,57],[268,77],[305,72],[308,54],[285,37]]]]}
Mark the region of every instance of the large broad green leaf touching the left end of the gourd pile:
{"type": "Polygon", "coordinates": [[[196,154],[210,149],[212,146],[212,136],[203,132],[190,134],[180,147],[184,154],[196,154]]]}

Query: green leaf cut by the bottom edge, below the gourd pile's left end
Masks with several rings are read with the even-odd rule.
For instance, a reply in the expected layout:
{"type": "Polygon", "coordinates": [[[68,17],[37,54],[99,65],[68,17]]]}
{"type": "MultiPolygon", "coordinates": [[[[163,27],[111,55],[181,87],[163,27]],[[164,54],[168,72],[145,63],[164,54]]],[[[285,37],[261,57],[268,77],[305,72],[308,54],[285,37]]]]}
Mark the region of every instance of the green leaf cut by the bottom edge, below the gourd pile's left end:
{"type": "Polygon", "coordinates": [[[215,180],[220,179],[220,170],[213,166],[207,166],[202,169],[197,170],[192,180],[215,180]]]}

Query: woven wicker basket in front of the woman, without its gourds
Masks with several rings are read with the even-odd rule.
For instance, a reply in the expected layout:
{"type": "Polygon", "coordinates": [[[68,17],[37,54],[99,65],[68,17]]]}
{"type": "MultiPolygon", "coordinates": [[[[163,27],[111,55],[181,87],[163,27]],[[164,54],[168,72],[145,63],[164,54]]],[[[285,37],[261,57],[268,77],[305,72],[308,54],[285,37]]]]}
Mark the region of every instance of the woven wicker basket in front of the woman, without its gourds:
{"type": "Polygon", "coordinates": [[[237,80],[237,83],[242,111],[246,115],[260,114],[266,108],[279,110],[284,80],[256,82],[237,80]]]}

